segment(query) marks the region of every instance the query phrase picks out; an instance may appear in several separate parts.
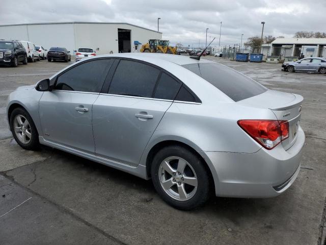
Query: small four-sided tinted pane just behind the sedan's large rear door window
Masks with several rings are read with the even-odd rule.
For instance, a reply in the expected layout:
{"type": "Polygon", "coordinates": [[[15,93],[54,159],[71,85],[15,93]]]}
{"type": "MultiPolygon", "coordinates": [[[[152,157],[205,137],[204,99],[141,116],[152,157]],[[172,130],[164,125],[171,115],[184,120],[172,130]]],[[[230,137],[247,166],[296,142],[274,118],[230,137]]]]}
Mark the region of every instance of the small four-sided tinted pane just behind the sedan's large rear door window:
{"type": "Polygon", "coordinates": [[[164,99],[164,100],[174,100],[177,95],[181,83],[170,77],[169,75],[162,73],[159,78],[154,98],[155,99],[164,99]]]}

